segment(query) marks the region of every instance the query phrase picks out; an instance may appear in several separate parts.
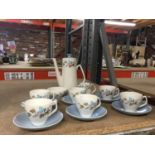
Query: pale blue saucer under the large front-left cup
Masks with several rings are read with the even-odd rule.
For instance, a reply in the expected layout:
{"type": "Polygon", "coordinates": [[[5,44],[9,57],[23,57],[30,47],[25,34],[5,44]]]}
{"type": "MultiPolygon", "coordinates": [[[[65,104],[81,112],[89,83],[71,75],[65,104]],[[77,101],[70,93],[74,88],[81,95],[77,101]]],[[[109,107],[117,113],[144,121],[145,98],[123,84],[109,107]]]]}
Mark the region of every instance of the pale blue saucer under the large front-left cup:
{"type": "Polygon", "coordinates": [[[19,128],[27,130],[44,130],[59,124],[62,121],[62,119],[63,119],[63,113],[57,111],[55,114],[53,114],[47,119],[44,125],[38,127],[34,126],[31,123],[26,112],[21,112],[13,118],[13,124],[19,128]]]}

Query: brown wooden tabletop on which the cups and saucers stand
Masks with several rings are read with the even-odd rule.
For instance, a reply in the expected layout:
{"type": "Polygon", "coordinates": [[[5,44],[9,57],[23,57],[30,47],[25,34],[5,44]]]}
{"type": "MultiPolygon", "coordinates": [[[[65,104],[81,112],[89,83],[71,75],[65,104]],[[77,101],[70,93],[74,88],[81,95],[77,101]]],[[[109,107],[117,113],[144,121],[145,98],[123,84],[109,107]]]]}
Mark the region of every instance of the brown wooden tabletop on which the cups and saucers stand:
{"type": "Polygon", "coordinates": [[[132,133],[139,130],[155,128],[155,108],[145,116],[128,116],[115,111],[110,103],[102,103],[108,115],[100,120],[83,122],[69,117],[65,113],[65,105],[59,102],[59,110],[63,112],[63,121],[55,127],[44,131],[28,131],[20,129],[12,123],[13,117],[22,112],[20,103],[29,98],[29,91],[37,88],[56,86],[55,80],[46,81],[0,81],[0,134],[13,135],[64,135],[64,134],[118,134],[132,133]]]}

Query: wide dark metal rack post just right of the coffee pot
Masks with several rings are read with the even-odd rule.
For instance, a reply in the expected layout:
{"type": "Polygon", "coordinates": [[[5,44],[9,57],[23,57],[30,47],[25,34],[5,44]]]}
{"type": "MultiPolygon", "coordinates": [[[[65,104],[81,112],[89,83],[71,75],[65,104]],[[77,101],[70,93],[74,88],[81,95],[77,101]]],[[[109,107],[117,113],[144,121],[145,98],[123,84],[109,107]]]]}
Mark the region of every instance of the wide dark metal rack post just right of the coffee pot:
{"type": "Polygon", "coordinates": [[[91,19],[89,22],[88,64],[91,81],[99,84],[102,72],[102,45],[99,34],[101,20],[91,19]]]}

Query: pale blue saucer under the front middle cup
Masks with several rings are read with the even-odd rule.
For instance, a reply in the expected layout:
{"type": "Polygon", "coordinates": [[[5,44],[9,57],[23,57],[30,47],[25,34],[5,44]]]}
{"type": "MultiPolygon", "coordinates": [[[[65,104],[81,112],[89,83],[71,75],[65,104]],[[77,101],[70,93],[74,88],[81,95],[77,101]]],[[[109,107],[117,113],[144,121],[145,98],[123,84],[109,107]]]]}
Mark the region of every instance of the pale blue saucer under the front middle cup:
{"type": "Polygon", "coordinates": [[[94,121],[94,120],[97,120],[97,119],[100,119],[104,116],[106,116],[107,114],[107,109],[104,108],[104,107],[99,107],[97,108],[94,113],[92,114],[92,116],[90,118],[84,118],[80,115],[78,109],[76,108],[76,105],[70,105],[66,108],[66,113],[75,118],[75,119],[78,119],[78,120],[82,120],[82,121],[94,121]]]}

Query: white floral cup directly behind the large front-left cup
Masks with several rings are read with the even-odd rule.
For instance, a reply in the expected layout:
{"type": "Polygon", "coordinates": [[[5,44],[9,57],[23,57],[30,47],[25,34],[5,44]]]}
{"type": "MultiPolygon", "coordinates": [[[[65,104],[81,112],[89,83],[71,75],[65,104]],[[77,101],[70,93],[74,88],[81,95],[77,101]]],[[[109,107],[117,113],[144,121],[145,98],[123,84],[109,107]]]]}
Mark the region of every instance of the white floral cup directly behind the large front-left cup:
{"type": "Polygon", "coordinates": [[[50,94],[47,89],[34,89],[29,92],[30,98],[49,98],[50,94]]]}

